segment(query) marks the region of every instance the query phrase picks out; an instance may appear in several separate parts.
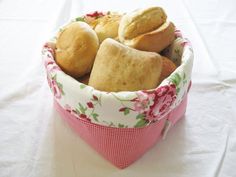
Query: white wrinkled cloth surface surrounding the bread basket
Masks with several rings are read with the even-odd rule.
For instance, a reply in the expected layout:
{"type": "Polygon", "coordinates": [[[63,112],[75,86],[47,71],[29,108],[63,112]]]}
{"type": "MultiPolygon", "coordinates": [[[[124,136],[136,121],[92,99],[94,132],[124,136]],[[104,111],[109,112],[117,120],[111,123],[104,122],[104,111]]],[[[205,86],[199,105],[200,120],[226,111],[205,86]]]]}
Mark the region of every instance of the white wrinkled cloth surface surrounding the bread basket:
{"type": "Polygon", "coordinates": [[[234,0],[0,0],[0,177],[235,177],[234,0]],[[40,51],[53,30],[92,10],[163,6],[195,52],[185,119],[130,167],[91,149],[54,110],[40,51]]]}

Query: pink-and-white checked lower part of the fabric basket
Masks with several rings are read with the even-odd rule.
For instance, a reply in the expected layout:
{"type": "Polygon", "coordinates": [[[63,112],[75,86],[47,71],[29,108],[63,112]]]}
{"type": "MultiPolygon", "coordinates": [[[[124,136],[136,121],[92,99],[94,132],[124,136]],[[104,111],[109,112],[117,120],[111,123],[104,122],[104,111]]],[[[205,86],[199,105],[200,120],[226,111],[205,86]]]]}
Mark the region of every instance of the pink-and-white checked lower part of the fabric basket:
{"type": "Polygon", "coordinates": [[[187,95],[165,118],[143,128],[113,128],[93,124],[76,118],[65,111],[55,100],[55,108],[69,125],[90,146],[118,168],[125,168],[139,159],[160,140],[166,120],[171,127],[180,120],[186,110],[187,95]]]}

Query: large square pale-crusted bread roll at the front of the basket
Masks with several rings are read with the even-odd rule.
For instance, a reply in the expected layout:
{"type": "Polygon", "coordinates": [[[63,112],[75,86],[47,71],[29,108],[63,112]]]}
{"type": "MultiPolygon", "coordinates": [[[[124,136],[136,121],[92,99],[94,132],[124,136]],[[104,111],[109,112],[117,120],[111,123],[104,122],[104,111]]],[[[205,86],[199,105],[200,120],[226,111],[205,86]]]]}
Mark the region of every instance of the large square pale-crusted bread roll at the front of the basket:
{"type": "Polygon", "coordinates": [[[161,56],[139,51],[113,39],[105,39],[98,50],[89,85],[102,91],[147,90],[157,86],[161,56]]]}

